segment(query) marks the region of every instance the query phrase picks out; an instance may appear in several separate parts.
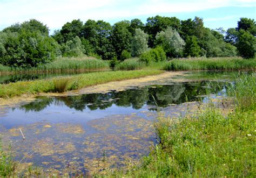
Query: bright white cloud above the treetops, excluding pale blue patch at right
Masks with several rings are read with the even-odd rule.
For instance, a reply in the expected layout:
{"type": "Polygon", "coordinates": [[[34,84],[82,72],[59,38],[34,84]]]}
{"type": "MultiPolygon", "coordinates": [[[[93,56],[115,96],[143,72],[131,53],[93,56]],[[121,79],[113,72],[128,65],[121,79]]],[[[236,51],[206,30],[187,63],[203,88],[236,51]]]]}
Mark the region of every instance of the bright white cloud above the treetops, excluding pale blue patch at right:
{"type": "MultiPolygon", "coordinates": [[[[124,19],[170,12],[194,12],[226,6],[256,6],[256,0],[0,0],[0,26],[9,26],[31,18],[59,29],[66,22],[80,18],[124,19]]],[[[214,20],[214,19],[208,19],[214,20]]]]}

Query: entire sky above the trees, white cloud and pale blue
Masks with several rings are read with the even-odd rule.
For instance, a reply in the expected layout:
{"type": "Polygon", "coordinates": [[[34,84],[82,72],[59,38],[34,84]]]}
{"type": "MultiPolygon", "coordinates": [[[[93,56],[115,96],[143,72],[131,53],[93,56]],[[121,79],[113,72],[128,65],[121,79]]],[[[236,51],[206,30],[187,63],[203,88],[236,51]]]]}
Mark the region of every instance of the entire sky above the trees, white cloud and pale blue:
{"type": "Polygon", "coordinates": [[[0,30],[15,23],[37,19],[50,33],[80,19],[104,20],[113,25],[120,20],[156,15],[181,20],[204,19],[210,29],[236,27],[240,17],[256,20],[256,0],[0,0],[0,30]]]}

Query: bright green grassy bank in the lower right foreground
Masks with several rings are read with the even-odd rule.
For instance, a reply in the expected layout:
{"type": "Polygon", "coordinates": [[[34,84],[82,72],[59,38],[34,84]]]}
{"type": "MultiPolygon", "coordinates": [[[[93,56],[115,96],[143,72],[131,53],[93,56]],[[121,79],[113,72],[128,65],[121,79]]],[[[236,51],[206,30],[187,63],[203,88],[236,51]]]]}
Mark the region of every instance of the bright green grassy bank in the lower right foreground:
{"type": "Polygon", "coordinates": [[[208,106],[173,120],[160,116],[160,138],[140,165],[114,177],[255,177],[256,77],[242,76],[235,87],[233,112],[208,106]]]}

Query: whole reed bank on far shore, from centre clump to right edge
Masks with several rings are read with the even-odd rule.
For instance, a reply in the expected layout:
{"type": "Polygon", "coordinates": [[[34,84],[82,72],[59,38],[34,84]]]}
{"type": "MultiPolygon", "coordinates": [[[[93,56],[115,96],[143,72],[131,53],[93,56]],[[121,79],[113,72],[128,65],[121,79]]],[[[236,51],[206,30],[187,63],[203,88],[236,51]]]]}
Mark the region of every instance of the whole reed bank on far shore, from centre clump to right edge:
{"type": "Polygon", "coordinates": [[[255,70],[256,58],[244,60],[239,57],[226,58],[181,58],[156,61],[149,55],[143,58],[127,59],[116,66],[117,70],[161,69],[161,70],[255,70]]]}

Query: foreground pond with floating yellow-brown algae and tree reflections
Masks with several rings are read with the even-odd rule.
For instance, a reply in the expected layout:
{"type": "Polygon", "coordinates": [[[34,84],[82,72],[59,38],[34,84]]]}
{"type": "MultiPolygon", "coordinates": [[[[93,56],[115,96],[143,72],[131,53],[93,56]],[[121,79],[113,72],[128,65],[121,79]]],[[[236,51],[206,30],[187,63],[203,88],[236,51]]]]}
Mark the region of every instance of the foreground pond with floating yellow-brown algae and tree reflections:
{"type": "MultiPolygon", "coordinates": [[[[183,77],[205,75],[188,74],[183,77]]],[[[231,74],[225,73],[224,79],[231,82],[231,74]]],[[[3,143],[11,142],[15,160],[43,167],[45,172],[72,175],[119,168],[149,154],[157,144],[153,124],[159,112],[177,118],[198,110],[210,94],[225,94],[226,80],[207,80],[154,81],[104,94],[41,96],[31,103],[0,108],[0,134],[3,143]]]]}

